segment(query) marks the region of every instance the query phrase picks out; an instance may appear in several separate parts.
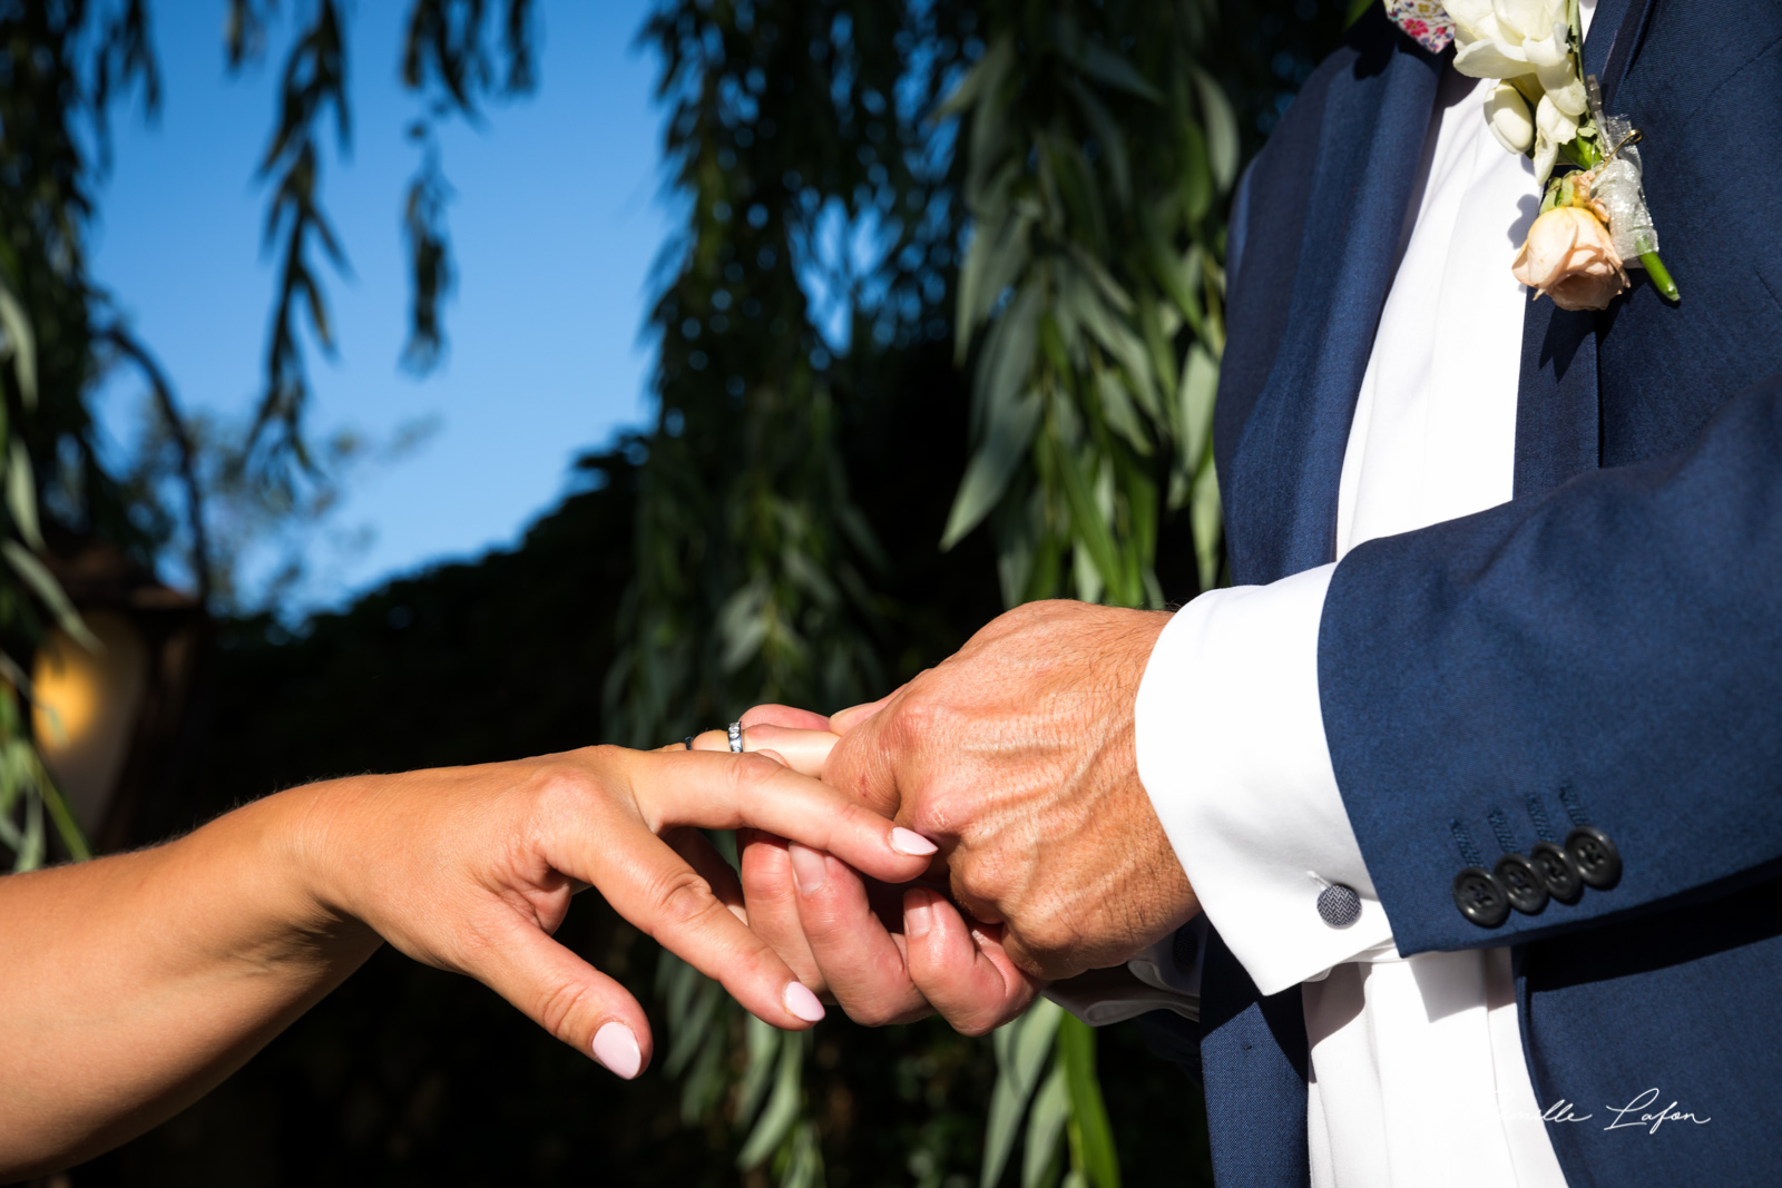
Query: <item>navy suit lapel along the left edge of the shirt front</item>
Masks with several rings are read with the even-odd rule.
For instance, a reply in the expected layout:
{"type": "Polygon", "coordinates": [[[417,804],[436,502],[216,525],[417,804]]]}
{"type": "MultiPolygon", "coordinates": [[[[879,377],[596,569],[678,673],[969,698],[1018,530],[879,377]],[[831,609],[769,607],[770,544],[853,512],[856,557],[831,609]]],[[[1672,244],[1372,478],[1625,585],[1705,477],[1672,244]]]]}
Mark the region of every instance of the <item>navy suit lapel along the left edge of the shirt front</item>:
{"type": "Polygon", "coordinates": [[[1322,112],[1287,337],[1228,476],[1244,518],[1231,572],[1267,582],[1335,556],[1336,486],[1361,374],[1397,267],[1442,59],[1386,21],[1358,27],[1322,112]]]}

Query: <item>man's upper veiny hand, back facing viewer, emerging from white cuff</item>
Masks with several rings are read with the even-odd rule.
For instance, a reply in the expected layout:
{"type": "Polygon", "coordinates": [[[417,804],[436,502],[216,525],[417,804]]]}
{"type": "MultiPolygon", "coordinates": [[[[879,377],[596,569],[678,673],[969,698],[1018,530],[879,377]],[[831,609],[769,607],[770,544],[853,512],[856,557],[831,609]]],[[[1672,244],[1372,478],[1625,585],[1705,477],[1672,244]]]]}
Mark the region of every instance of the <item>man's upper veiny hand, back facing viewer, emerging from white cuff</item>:
{"type": "MultiPolygon", "coordinates": [[[[1117,965],[1199,905],[1139,782],[1133,702],[1169,616],[1035,602],[830,720],[823,778],[941,846],[1023,971],[1117,965]]],[[[920,894],[920,892],[911,892],[920,894]]]]}

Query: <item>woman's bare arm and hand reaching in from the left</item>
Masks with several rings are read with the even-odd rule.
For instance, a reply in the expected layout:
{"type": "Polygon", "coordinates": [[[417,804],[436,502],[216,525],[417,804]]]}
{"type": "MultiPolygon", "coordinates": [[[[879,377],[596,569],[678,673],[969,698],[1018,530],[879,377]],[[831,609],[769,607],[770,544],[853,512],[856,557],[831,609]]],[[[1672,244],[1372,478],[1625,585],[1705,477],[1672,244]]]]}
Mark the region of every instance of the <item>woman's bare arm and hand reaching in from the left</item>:
{"type": "Polygon", "coordinates": [[[551,939],[586,885],[766,1022],[807,1028],[822,1006],[690,828],[743,825],[893,882],[932,853],[772,757],[588,748],[314,784],[151,850],[0,878],[0,1179],[180,1111],[385,940],[636,1076],[643,1010],[551,939]]]}

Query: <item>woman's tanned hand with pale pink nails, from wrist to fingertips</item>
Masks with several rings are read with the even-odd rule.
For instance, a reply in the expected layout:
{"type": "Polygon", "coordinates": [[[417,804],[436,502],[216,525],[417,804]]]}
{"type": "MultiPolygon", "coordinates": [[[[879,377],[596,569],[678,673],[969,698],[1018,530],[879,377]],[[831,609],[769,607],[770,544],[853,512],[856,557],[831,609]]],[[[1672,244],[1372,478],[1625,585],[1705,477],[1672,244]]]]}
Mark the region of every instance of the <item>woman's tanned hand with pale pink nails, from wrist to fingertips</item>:
{"type": "Polygon", "coordinates": [[[408,956],[470,974],[622,1078],[650,1058],[636,999],[551,939],[577,885],[777,1028],[823,1006],[743,923],[734,871],[695,828],[757,826],[886,882],[934,846],[770,755],[593,746],[312,789],[317,899],[408,956]]]}

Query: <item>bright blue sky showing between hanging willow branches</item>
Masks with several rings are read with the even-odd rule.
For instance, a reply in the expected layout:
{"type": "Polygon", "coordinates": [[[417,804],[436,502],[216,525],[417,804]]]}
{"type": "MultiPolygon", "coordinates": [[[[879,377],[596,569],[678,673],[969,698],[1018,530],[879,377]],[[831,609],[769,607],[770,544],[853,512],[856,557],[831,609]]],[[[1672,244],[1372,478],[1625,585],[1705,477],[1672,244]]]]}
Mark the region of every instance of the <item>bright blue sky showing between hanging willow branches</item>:
{"type": "MultiPolygon", "coordinates": [[[[280,34],[292,7],[303,5],[282,5],[280,34]]],[[[647,0],[545,0],[538,91],[490,107],[481,130],[446,126],[456,191],[451,342],[433,374],[405,372],[399,219],[417,166],[403,137],[417,105],[397,80],[408,5],[349,7],[353,144],[326,166],[323,192],[351,276],[326,283],[339,356],[310,353],[310,426],[315,436],[349,426],[372,438],[422,419],[437,429],[408,458],[358,476],[310,538],[307,606],[511,543],[563,493],[576,454],[643,420],[647,278],[670,233],[650,102],[656,59],[634,50],[647,0]],[[355,538],[356,547],[342,543],[355,538]]],[[[162,112],[155,125],[134,110],[116,121],[93,271],[187,408],[241,417],[258,390],[273,299],[253,166],[285,39],[260,68],[230,78],[223,11],[223,0],[155,5],[162,112]]],[[[119,443],[134,433],[137,399],[135,383],[102,395],[119,443]]]]}

